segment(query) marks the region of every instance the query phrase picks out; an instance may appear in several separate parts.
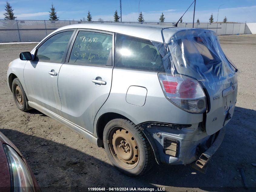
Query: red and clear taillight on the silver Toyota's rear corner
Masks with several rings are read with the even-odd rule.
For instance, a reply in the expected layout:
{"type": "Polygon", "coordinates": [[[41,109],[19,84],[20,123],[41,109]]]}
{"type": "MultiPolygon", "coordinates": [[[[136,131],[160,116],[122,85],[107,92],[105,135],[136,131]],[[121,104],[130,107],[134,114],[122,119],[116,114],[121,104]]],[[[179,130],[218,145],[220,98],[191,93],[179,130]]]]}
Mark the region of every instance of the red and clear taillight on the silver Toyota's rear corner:
{"type": "Polygon", "coordinates": [[[165,96],[171,103],[190,113],[206,111],[206,96],[197,80],[161,73],[158,76],[165,96]]]}

